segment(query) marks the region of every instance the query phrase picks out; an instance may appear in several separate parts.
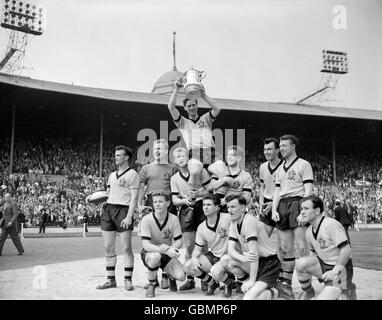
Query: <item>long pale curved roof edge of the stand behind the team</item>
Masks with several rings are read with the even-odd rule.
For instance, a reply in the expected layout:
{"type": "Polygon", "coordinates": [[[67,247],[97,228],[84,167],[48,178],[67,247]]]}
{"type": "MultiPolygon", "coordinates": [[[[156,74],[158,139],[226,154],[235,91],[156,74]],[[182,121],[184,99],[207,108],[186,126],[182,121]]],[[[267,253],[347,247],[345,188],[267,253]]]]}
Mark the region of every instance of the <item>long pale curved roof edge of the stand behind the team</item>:
{"type": "MultiPolygon", "coordinates": [[[[0,85],[6,84],[22,88],[43,90],[48,92],[60,92],[93,98],[150,103],[157,105],[167,105],[169,97],[153,93],[121,91],[111,89],[90,88],[63,84],[50,81],[35,80],[26,77],[17,77],[0,73],[0,85]]],[[[252,112],[271,112],[285,114],[300,114],[310,116],[353,118],[367,120],[382,120],[382,111],[367,109],[351,109],[326,107],[318,105],[305,105],[282,102],[260,102],[249,100],[215,99],[222,109],[252,112]]],[[[182,105],[182,97],[178,97],[177,105],[182,105]]],[[[207,107],[204,101],[199,104],[200,107],[207,107]]]]}

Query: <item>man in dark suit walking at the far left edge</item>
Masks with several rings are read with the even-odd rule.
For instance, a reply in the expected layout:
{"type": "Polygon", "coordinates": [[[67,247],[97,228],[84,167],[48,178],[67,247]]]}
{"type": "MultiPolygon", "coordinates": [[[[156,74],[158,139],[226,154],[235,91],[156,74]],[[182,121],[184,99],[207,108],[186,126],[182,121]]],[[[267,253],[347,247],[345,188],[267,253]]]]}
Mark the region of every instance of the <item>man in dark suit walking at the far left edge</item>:
{"type": "Polygon", "coordinates": [[[21,244],[19,235],[17,234],[17,216],[19,215],[20,210],[17,207],[17,204],[12,200],[10,193],[6,193],[4,195],[4,200],[5,203],[1,207],[3,216],[0,218],[0,256],[8,234],[11,236],[11,239],[19,252],[19,255],[22,255],[24,253],[24,248],[21,244]]]}

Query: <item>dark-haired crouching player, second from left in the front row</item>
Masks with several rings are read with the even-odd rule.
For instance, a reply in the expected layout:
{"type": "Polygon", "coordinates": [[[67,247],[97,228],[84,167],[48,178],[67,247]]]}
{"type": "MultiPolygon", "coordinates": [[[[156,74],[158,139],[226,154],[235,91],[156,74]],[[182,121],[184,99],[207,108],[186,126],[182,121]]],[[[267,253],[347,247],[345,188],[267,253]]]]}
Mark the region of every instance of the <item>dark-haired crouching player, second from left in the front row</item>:
{"type": "Polygon", "coordinates": [[[231,219],[228,214],[219,212],[220,198],[216,194],[203,197],[203,211],[207,219],[202,222],[195,237],[195,248],[192,258],[184,263],[184,271],[208,283],[207,296],[214,294],[219,288],[219,279],[231,279],[227,272],[217,262],[227,253],[228,231],[231,219]],[[203,248],[210,249],[203,254],[203,248]],[[213,277],[211,276],[213,275],[213,277]]]}

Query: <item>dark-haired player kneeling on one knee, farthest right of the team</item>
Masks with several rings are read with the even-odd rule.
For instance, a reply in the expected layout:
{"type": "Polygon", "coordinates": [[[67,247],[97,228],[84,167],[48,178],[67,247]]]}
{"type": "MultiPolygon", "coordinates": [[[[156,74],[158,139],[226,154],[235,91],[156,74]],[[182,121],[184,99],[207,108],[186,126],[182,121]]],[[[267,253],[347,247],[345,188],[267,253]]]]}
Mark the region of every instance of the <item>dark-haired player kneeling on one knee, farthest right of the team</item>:
{"type": "Polygon", "coordinates": [[[343,226],[335,219],[322,215],[324,205],[317,196],[301,200],[301,216],[303,223],[310,223],[306,230],[311,255],[302,257],[296,262],[298,281],[302,292],[302,300],[315,296],[310,284],[311,275],[325,283],[317,300],[336,300],[340,297],[356,299],[353,279],[352,250],[343,226]]]}

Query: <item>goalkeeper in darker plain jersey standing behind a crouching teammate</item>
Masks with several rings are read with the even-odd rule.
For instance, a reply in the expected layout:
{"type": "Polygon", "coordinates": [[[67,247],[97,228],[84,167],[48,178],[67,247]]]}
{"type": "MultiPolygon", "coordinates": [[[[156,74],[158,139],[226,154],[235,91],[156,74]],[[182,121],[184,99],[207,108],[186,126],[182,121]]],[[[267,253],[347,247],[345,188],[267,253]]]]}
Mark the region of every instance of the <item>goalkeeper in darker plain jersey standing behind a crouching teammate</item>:
{"type": "MultiPolygon", "coordinates": [[[[158,139],[153,142],[153,156],[154,161],[142,166],[139,171],[140,186],[138,194],[138,209],[139,213],[144,214],[142,210],[146,207],[153,209],[152,195],[156,191],[164,190],[171,193],[170,179],[177,172],[175,165],[168,162],[168,143],[165,139],[158,139]],[[144,196],[146,195],[146,200],[144,196]]],[[[168,209],[172,214],[177,214],[176,207],[172,202],[168,209]]],[[[156,283],[159,286],[159,283],[156,283]]],[[[169,287],[168,277],[166,273],[162,273],[161,288],[167,289],[169,287]]]]}

